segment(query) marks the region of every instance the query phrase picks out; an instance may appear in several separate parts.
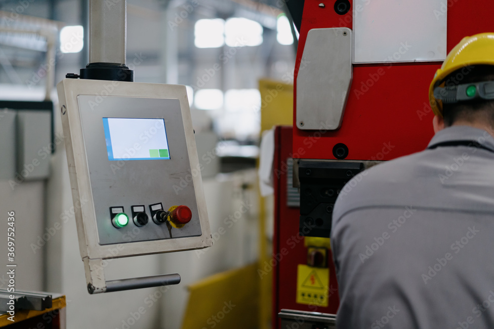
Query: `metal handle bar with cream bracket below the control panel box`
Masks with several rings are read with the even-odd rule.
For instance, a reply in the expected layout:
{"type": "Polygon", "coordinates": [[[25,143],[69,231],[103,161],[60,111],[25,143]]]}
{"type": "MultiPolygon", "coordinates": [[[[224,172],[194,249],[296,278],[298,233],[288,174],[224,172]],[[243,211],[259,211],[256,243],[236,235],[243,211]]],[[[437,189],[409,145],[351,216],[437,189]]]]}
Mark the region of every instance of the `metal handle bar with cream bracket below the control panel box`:
{"type": "Polygon", "coordinates": [[[86,273],[87,291],[91,294],[177,285],[181,280],[178,273],[173,273],[106,281],[103,259],[84,257],[82,260],[86,273]]]}

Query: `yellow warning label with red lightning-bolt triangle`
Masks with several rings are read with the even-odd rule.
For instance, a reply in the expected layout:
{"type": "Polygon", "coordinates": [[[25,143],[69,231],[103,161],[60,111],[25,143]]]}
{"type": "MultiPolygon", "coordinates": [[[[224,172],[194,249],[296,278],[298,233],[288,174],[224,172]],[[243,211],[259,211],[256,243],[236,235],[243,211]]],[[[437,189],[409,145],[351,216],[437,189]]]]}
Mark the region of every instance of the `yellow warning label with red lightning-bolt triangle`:
{"type": "Polygon", "coordinates": [[[329,268],[298,265],[297,303],[328,306],[329,268]]]}

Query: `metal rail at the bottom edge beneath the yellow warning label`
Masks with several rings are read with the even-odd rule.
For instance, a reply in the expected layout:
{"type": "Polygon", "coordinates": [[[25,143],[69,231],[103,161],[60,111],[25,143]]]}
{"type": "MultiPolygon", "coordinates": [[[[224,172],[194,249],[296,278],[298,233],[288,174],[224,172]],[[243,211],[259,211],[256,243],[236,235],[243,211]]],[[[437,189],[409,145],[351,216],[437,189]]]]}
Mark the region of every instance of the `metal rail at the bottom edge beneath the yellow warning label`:
{"type": "Polygon", "coordinates": [[[278,313],[278,317],[281,319],[281,328],[336,328],[336,315],[334,314],[282,309],[281,312],[278,313]]]}

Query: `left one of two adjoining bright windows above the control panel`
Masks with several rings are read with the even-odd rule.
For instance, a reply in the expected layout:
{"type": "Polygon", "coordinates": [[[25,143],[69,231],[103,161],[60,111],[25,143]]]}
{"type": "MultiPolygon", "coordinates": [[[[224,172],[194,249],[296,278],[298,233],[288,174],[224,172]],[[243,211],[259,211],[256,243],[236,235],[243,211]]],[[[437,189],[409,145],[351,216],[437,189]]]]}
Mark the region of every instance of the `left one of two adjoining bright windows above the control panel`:
{"type": "Polygon", "coordinates": [[[220,18],[200,19],[194,27],[194,44],[198,48],[218,48],[225,43],[225,21],[220,18]]]}

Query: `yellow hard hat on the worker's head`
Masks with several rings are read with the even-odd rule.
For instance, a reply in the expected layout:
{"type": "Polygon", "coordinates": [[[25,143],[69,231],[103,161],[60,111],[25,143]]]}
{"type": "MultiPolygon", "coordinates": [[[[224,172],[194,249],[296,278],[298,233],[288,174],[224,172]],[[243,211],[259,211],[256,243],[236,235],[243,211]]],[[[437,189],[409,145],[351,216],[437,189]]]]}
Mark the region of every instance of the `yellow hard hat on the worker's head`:
{"type": "Polygon", "coordinates": [[[429,102],[434,114],[443,115],[443,104],[434,97],[434,89],[442,86],[449,74],[473,65],[494,65],[494,33],[465,37],[448,54],[429,88],[429,102]]]}

